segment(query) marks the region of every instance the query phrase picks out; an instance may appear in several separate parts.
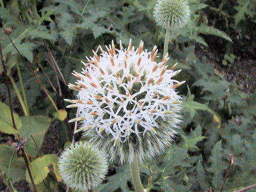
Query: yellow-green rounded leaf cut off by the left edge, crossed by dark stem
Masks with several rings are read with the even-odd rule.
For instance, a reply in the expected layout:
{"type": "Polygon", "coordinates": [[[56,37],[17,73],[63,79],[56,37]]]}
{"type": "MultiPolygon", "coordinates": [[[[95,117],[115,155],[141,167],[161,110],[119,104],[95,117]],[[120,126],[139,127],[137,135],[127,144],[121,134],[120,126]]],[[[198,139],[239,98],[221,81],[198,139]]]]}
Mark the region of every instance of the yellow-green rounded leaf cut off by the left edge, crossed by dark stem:
{"type": "MultiPolygon", "coordinates": [[[[22,126],[22,122],[20,117],[13,113],[14,121],[17,129],[19,130],[22,126]]],[[[10,108],[6,106],[4,103],[0,102],[0,131],[7,134],[15,134],[18,133],[17,130],[14,129],[12,125],[12,117],[10,113],[10,108]]]]}

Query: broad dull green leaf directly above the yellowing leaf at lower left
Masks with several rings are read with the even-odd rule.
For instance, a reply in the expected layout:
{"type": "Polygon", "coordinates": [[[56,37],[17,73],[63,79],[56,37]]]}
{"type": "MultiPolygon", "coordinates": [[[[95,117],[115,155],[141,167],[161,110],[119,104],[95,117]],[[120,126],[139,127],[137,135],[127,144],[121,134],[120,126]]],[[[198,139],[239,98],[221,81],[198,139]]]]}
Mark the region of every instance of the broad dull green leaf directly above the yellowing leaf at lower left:
{"type": "Polygon", "coordinates": [[[44,134],[51,123],[51,118],[45,116],[23,116],[21,117],[21,122],[22,127],[19,133],[23,139],[28,138],[25,149],[29,155],[36,157],[38,154],[38,149],[43,143],[44,134]],[[36,144],[30,135],[33,136],[36,144]]]}

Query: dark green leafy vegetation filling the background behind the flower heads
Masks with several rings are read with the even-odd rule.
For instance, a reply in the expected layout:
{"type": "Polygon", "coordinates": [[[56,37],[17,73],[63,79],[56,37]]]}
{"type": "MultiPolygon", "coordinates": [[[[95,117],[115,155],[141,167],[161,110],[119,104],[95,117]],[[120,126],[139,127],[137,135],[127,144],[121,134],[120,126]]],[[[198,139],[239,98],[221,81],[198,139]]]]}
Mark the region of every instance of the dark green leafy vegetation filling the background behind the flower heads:
{"type": "MultiPolygon", "coordinates": [[[[92,49],[97,50],[99,44],[105,47],[112,39],[116,44],[121,39],[124,46],[130,38],[137,46],[142,39],[148,49],[156,44],[161,60],[164,31],[153,19],[155,2],[0,0],[0,41],[18,129],[12,126],[1,63],[2,190],[8,186],[9,191],[15,187],[28,191],[25,180],[32,189],[23,158],[7,145],[19,133],[28,138],[25,150],[38,191],[65,191],[65,185],[58,182],[57,162],[74,131],[74,124],[67,120],[74,118],[76,111],[67,109],[67,116],[67,103],[63,102],[63,98],[75,98],[76,91],[66,85],[75,82],[71,72],[80,71],[80,60],[86,62],[92,49]]],[[[177,78],[188,85],[179,87],[184,95],[183,124],[166,154],[141,165],[141,179],[150,191],[205,191],[210,187],[220,191],[229,154],[233,154],[223,191],[235,191],[256,183],[256,95],[252,83],[256,76],[256,3],[190,0],[189,4],[191,21],[172,31],[168,62],[169,66],[179,63],[177,68],[183,70],[177,78]],[[247,74],[245,69],[249,69],[247,74]],[[237,75],[240,73],[243,79],[237,75]]],[[[129,167],[116,164],[93,191],[132,190],[129,167]]]]}

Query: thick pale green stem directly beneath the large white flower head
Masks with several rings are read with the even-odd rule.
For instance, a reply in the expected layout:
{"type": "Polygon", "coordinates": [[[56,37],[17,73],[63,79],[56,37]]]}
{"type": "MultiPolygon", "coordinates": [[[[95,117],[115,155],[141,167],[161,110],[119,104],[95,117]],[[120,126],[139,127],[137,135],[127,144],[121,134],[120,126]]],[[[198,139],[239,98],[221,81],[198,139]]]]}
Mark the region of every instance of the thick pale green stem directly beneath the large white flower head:
{"type": "Polygon", "coordinates": [[[138,158],[135,155],[133,163],[130,164],[131,174],[132,174],[132,182],[136,192],[144,192],[144,187],[141,184],[140,180],[140,170],[138,166],[138,158]]]}

